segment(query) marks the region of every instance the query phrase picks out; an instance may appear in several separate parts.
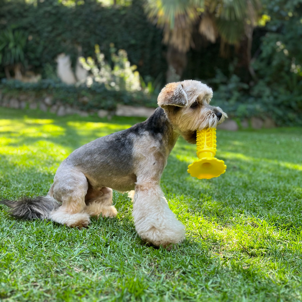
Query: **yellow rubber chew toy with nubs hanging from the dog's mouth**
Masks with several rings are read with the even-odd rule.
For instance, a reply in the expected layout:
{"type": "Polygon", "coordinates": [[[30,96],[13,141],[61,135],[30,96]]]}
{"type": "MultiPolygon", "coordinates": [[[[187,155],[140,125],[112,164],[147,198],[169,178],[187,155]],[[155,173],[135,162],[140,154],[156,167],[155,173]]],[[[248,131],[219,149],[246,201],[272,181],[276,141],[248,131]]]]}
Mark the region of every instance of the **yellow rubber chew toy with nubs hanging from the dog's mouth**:
{"type": "Polygon", "coordinates": [[[216,128],[208,128],[197,131],[197,157],[191,165],[188,165],[188,173],[199,179],[218,177],[226,172],[223,160],[215,158],[216,154],[216,128]]]}

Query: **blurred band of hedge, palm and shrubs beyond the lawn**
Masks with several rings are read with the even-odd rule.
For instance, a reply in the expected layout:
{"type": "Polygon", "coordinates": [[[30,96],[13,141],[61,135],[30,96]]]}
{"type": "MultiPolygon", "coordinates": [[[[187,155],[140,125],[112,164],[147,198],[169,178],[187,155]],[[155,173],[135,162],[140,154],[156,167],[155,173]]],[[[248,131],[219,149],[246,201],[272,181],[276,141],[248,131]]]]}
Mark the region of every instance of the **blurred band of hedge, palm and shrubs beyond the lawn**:
{"type": "Polygon", "coordinates": [[[300,3],[1,0],[0,87],[9,97],[26,91],[80,109],[114,110],[118,103],[156,107],[166,82],[198,79],[214,89],[213,103],[239,124],[270,117],[279,126],[301,125],[300,3]],[[96,59],[96,44],[112,68],[119,65],[114,51],[126,51],[139,72],[140,91],[117,91],[104,85],[104,75],[90,87],[58,81],[59,54],[70,56],[75,70],[79,56],[96,59]],[[8,80],[27,79],[25,74],[42,80],[8,80]]]}

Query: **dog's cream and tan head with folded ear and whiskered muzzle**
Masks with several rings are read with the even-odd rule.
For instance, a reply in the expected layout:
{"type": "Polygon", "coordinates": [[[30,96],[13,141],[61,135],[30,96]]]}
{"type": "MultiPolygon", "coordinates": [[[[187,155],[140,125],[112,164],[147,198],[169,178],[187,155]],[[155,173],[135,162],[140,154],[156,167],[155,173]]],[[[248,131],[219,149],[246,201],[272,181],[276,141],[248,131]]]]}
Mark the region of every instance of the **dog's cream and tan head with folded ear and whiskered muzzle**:
{"type": "Polygon", "coordinates": [[[207,85],[185,80],[165,85],[157,101],[185,140],[196,143],[196,130],[214,128],[227,117],[221,108],[209,105],[212,96],[207,85]]]}

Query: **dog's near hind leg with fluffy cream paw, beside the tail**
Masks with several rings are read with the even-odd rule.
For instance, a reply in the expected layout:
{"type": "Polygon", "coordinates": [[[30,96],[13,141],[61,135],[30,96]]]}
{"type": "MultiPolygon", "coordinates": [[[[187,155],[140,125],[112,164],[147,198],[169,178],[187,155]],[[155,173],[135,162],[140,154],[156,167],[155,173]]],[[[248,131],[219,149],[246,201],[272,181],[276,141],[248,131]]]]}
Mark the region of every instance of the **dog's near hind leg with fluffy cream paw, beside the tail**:
{"type": "Polygon", "coordinates": [[[67,166],[60,167],[54,178],[50,194],[62,205],[50,214],[50,219],[70,227],[86,227],[90,217],[85,212],[88,182],[85,175],[67,166]]]}

